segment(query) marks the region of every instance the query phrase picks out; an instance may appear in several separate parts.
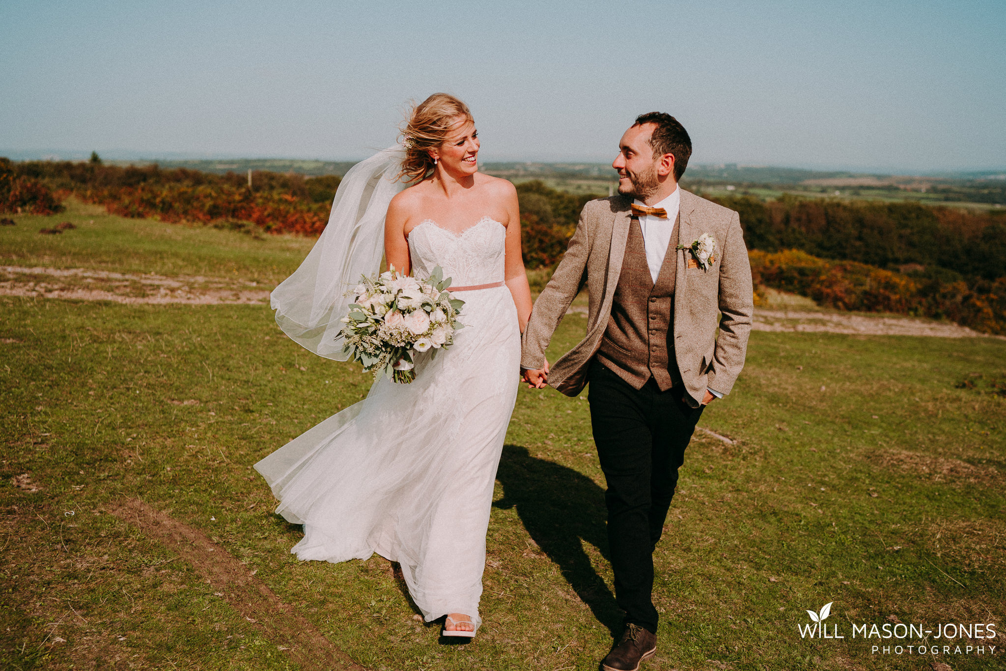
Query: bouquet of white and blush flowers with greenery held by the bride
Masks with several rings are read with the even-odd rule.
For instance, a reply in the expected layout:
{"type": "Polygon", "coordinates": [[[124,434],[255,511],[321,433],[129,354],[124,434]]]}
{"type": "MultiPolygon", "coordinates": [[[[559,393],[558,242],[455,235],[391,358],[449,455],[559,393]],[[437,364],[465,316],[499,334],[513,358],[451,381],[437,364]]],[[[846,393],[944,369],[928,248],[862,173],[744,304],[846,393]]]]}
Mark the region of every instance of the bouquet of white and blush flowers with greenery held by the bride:
{"type": "Polygon", "coordinates": [[[363,364],[376,379],[384,373],[395,382],[415,379],[412,356],[449,347],[454,333],[464,325],[458,315],[464,301],[451,298],[440,266],[429,278],[397,273],[361,278],[351,292],[353,303],[342,318],[343,354],[363,364]]]}

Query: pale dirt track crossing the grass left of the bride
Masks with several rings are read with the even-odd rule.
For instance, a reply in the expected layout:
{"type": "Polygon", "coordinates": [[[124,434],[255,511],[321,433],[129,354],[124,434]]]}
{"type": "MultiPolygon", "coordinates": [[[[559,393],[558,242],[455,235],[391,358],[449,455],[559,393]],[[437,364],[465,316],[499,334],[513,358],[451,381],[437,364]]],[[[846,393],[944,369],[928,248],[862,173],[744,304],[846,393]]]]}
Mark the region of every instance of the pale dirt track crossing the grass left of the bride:
{"type": "Polygon", "coordinates": [[[80,268],[0,267],[0,296],[154,305],[260,305],[269,301],[269,294],[256,282],[223,278],[169,278],[80,268]]]}

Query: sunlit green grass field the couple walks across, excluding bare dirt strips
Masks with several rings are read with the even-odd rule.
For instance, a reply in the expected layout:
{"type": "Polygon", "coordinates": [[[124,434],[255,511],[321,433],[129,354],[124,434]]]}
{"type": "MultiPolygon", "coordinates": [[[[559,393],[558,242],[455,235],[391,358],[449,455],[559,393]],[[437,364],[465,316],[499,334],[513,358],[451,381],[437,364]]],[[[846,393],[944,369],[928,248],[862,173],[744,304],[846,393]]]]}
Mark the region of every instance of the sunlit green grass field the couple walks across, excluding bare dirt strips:
{"type": "MultiPolygon", "coordinates": [[[[275,282],[310,246],[80,205],[16,219],[0,255],[18,266],[275,282]],[[61,220],[79,227],[34,232],[61,220]]],[[[296,668],[197,566],[112,514],[129,498],[204,532],[371,669],[591,670],[607,652],[619,614],[583,398],[521,389],[485,625],[445,646],[387,561],[294,559],[300,529],[272,513],[250,468],[362,398],[357,366],[308,354],[265,306],[7,297],[0,311],[6,668],[296,668]]],[[[583,327],[568,316],[550,358],[583,327]]],[[[733,393],[700,423],[734,442],[696,435],[686,456],[656,551],[660,648],[643,668],[1006,668],[998,637],[937,656],[871,653],[923,641],[851,638],[861,623],[1002,628],[1004,375],[1003,340],[753,333],[733,393]],[[806,611],[827,603],[846,638],[802,639],[806,611]]]]}

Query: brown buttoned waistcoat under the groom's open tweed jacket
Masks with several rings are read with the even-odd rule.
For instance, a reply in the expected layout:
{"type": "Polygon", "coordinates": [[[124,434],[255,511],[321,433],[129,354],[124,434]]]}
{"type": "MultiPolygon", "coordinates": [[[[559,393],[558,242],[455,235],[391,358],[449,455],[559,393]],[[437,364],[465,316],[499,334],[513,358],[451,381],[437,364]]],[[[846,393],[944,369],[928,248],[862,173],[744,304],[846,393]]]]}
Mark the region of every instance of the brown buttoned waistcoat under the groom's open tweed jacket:
{"type": "Polygon", "coordinates": [[[635,217],[629,226],[625,260],[615,288],[612,316],[601,340],[598,360],[641,389],[652,376],[666,391],[681,383],[674,358],[674,285],[677,279],[677,250],[680,226],[664,255],[664,264],[654,284],[646,263],[643,230],[635,217]]]}

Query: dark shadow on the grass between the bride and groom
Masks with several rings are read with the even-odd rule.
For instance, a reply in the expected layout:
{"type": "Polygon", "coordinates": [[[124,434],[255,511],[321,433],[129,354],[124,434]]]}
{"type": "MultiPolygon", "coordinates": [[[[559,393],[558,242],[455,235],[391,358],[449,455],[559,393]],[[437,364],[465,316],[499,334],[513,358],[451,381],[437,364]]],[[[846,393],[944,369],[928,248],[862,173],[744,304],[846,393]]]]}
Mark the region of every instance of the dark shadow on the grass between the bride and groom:
{"type": "Polygon", "coordinates": [[[581,473],[531,457],[527,448],[516,445],[503,447],[496,479],[503,498],[493,506],[516,508],[531,538],[558,564],[594,617],[613,636],[621,632],[622,612],[580,542],[591,543],[609,559],[605,491],[581,473]]]}

